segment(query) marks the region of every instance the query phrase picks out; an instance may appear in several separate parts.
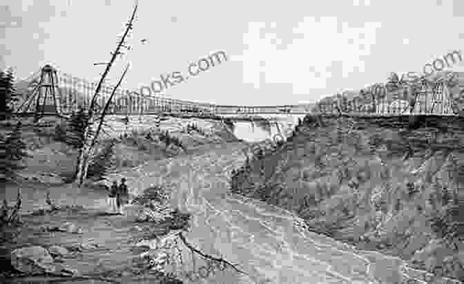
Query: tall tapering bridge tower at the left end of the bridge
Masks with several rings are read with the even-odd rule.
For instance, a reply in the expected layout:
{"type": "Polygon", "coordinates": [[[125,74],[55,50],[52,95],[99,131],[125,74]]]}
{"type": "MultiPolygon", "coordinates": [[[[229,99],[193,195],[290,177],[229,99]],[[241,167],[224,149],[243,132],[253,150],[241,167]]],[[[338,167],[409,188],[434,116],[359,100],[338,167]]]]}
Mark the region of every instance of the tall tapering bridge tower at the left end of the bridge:
{"type": "Polygon", "coordinates": [[[61,116],[61,104],[58,88],[57,70],[50,65],[43,66],[39,77],[39,82],[32,83],[32,91],[26,93],[17,113],[33,114],[36,120],[46,114],[61,116]]]}

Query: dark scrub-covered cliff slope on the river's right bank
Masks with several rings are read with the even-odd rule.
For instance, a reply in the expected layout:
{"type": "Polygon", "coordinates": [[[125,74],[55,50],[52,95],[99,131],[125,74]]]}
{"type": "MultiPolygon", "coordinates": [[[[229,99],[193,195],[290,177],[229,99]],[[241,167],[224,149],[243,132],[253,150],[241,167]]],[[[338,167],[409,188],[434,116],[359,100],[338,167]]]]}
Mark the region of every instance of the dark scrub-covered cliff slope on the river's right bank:
{"type": "Polygon", "coordinates": [[[452,209],[464,210],[456,125],[307,117],[291,142],[239,171],[232,188],[296,211],[314,231],[462,281],[464,245],[437,229],[437,220],[460,221],[452,209]]]}

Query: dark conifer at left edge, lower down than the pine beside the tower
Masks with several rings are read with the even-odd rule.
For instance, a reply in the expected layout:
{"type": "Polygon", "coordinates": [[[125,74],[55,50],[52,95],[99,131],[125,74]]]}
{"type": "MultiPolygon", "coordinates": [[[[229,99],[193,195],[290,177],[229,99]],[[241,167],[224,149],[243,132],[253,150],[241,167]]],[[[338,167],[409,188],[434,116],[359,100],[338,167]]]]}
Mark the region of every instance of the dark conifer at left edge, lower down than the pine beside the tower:
{"type": "Polygon", "coordinates": [[[25,168],[21,161],[29,156],[26,143],[21,139],[21,122],[12,133],[0,140],[0,178],[9,180],[15,171],[25,168]]]}

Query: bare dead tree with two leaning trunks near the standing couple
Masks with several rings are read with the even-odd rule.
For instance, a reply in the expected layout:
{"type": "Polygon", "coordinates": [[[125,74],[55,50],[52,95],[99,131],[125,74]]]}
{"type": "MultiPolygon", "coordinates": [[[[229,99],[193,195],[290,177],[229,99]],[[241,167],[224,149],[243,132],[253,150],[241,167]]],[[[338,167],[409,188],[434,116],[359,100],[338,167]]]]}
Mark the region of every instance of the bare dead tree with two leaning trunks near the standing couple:
{"type": "Polygon", "coordinates": [[[115,86],[115,88],[113,88],[113,92],[111,93],[110,97],[108,98],[108,101],[106,102],[106,106],[101,111],[101,115],[99,115],[99,116],[96,115],[97,114],[97,108],[95,108],[95,106],[97,105],[97,103],[96,103],[97,98],[99,97],[99,92],[100,92],[101,86],[102,86],[104,80],[106,79],[106,76],[108,75],[111,66],[113,66],[113,62],[117,58],[117,55],[122,54],[121,51],[120,51],[121,48],[126,47],[124,45],[125,44],[125,39],[126,39],[126,37],[128,35],[128,32],[132,29],[133,20],[135,18],[135,13],[136,12],[137,12],[137,5],[135,5],[135,8],[133,10],[131,19],[129,20],[128,23],[126,23],[126,30],[124,32],[124,35],[122,36],[121,40],[117,44],[115,52],[112,53],[112,57],[111,57],[110,61],[108,62],[103,75],[101,75],[100,81],[99,81],[99,83],[97,85],[97,88],[95,90],[95,94],[93,95],[92,100],[90,102],[90,107],[88,109],[88,115],[86,117],[86,122],[85,122],[86,127],[85,127],[85,134],[84,134],[84,144],[81,147],[81,149],[79,149],[79,157],[78,157],[78,160],[77,160],[76,181],[78,182],[79,187],[81,187],[81,185],[84,182],[84,179],[87,176],[88,164],[89,164],[90,160],[92,160],[93,155],[95,154],[94,153],[95,152],[95,149],[94,149],[95,148],[95,143],[96,143],[98,135],[99,135],[99,133],[101,131],[101,125],[104,123],[104,118],[105,118],[105,115],[106,115],[106,113],[108,111],[108,107],[109,107],[109,105],[111,103],[111,100],[113,100],[113,96],[114,96],[117,88],[119,87],[119,85],[122,82],[122,79],[124,79],[124,76],[126,75],[126,72],[128,70],[128,66],[126,67],[126,70],[124,70],[124,73],[123,73],[122,77],[119,79],[119,82],[117,83],[117,86],[115,86]],[[97,131],[95,131],[95,133],[94,133],[93,132],[93,126],[97,122],[98,122],[97,131]]]}

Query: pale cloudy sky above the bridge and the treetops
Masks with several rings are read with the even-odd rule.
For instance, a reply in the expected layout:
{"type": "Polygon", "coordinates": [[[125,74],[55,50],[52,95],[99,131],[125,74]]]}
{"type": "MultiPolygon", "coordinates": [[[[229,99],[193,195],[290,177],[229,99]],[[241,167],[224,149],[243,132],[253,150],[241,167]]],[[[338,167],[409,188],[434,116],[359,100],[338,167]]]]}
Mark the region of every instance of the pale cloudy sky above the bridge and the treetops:
{"type": "MultiPolygon", "coordinates": [[[[133,0],[2,0],[0,68],[19,78],[50,64],[97,82],[131,16],[133,0]]],[[[139,0],[122,88],[224,51],[226,61],[158,95],[231,105],[311,103],[385,82],[391,72],[421,73],[464,50],[462,0],[153,1],[139,0]],[[146,39],[142,42],[142,39],[146,39]]],[[[462,53],[464,56],[464,53],[462,53]]],[[[464,70],[464,62],[445,70],[464,70]]]]}

